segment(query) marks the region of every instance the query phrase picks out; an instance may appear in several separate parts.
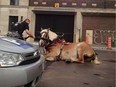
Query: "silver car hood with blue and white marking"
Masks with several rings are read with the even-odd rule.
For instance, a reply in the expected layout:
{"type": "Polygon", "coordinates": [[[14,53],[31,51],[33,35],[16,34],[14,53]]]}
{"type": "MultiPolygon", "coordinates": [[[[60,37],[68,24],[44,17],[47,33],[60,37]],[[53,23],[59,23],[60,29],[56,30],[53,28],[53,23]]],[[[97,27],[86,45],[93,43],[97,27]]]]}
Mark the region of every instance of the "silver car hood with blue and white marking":
{"type": "Polygon", "coordinates": [[[14,53],[28,53],[38,50],[38,46],[16,38],[0,36],[0,50],[14,53]]]}

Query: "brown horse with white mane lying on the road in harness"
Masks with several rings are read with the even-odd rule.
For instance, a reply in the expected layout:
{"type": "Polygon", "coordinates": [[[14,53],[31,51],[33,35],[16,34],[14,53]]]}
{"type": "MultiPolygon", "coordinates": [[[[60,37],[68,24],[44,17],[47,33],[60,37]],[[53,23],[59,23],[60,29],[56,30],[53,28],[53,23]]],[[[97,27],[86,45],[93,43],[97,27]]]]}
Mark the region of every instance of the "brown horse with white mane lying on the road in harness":
{"type": "MultiPolygon", "coordinates": [[[[45,31],[47,32],[46,34],[48,36],[47,35],[41,35],[41,36],[47,36],[49,38],[50,33],[52,31],[49,30],[48,32],[47,29],[44,29],[41,31],[41,34],[43,33],[45,34],[45,31]]],[[[57,34],[54,39],[56,38],[58,38],[57,34]]],[[[54,39],[52,39],[52,42],[54,39]]],[[[42,42],[44,42],[44,40],[42,42]]],[[[87,60],[87,61],[93,61],[95,64],[101,63],[100,61],[98,61],[95,51],[91,48],[90,45],[88,45],[85,42],[69,43],[69,42],[65,42],[64,40],[58,39],[52,46],[48,48],[49,50],[45,54],[45,59],[49,61],[60,59],[70,62],[84,63],[87,60]]]]}

